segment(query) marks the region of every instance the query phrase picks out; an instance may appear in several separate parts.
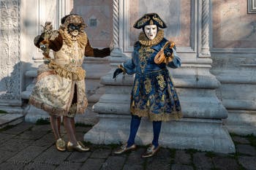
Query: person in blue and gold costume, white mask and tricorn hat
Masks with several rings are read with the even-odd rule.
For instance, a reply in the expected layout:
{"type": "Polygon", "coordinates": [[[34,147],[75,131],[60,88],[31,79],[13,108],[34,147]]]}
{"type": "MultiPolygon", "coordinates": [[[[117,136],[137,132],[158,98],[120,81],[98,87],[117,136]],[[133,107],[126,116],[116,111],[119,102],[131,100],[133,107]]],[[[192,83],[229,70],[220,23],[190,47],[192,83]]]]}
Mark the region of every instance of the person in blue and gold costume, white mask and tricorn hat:
{"type": "Polygon", "coordinates": [[[174,42],[164,37],[164,21],[157,13],[143,15],[134,28],[142,28],[139,41],[135,42],[132,58],[118,66],[113,78],[118,74],[135,74],[132,87],[129,139],[116,154],[135,150],[135,136],[141,117],[148,117],[153,122],[154,139],[143,158],[153,156],[159,150],[159,133],[162,121],[178,120],[182,117],[181,105],[167,67],[176,69],[181,66],[181,59],[176,54],[174,42]]]}

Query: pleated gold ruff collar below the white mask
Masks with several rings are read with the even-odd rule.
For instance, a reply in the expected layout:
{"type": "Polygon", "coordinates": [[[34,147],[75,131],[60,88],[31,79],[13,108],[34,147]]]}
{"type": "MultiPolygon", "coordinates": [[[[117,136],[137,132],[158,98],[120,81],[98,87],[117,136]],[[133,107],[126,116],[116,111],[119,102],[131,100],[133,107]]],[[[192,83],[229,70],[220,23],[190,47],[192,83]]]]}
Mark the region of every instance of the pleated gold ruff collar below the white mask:
{"type": "Polygon", "coordinates": [[[144,32],[140,32],[140,36],[139,36],[139,42],[141,45],[145,45],[145,46],[152,46],[152,45],[157,45],[159,42],[162,41],[162,39],[164,38],[164,31],[163,30],[159,30],[157,32],[157,36],[154,39],[148,39],[146,37],[146,35],[144,34],[144,32]]]}

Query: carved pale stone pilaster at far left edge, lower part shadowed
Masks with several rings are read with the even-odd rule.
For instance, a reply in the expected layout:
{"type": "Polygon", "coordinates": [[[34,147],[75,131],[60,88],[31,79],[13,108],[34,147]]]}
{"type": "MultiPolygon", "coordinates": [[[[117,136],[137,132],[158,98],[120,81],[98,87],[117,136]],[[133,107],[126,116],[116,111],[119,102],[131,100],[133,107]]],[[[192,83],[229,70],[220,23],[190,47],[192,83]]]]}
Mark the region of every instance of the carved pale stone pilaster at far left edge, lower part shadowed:
{"type": "Polygon", "coordinates": [[[3,100],[20,101],[19,18],[19,0],[0,0],[0,99],[3,100]]]}

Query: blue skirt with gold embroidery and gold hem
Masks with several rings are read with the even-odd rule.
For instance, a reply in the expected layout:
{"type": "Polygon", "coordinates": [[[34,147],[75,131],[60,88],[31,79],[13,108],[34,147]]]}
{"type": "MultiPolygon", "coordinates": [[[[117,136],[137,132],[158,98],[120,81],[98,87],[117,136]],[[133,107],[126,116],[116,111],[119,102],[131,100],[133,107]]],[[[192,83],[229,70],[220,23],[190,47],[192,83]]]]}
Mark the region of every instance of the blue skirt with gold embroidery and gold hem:
{"type": "Polygon", "coordinates": [[[167,69],[147,74],[135,74],[131,94],[132,115],[151,121],[178,120],[181,104],[167,69]]]}

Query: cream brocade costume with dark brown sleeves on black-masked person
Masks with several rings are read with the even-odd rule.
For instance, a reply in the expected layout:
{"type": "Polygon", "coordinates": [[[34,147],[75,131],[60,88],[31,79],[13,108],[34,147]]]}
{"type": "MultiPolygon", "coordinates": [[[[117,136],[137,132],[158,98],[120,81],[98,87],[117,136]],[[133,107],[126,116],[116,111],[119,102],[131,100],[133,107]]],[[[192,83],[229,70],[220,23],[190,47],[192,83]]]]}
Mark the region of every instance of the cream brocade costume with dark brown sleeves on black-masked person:
{"type": "Polygon", "coordinates": [[[39,66],[37,82],[29,103],[50,115],[72,117],[76,113],[82,114],[88,104],[86,71],[81,67],[83,56],[105,57],[109,55],[110,50],[92,48],[84,32],[74,38],[67,30],[61,28],[50,41],[50,48],[54,58],[50,63],[39,66]]]}

